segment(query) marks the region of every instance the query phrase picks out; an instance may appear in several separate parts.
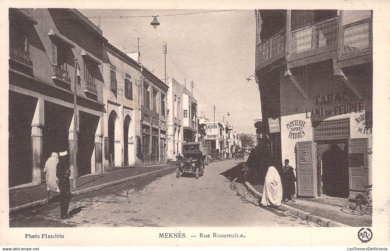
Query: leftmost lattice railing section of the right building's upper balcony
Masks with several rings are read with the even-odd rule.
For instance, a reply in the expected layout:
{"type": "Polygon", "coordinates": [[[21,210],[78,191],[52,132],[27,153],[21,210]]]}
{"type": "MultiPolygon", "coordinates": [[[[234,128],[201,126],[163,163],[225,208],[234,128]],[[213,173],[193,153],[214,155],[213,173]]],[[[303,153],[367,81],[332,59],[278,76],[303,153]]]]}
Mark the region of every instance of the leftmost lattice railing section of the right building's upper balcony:
{"type": "Polygon", "coordinates": [[[259,64],[267,61],[268,59],[284,55],[285,34],[285,30],[282,30],[256,46],[256,66],[259,66],[259,64]]]}

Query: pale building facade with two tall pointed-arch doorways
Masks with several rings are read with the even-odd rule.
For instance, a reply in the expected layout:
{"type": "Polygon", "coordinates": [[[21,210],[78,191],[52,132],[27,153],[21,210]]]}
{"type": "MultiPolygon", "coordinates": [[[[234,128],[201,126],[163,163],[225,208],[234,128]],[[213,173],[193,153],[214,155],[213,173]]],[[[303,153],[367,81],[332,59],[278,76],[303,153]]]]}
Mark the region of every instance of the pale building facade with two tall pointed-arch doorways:
{"type": "Polygon", "coordinates": [[[103,46],[103,170],[138,164],[140,154],[139,85],[141,66],[137,61],[106,42],[103,46]],[[138,140],[138,149],[137,149],[138,140]]]}

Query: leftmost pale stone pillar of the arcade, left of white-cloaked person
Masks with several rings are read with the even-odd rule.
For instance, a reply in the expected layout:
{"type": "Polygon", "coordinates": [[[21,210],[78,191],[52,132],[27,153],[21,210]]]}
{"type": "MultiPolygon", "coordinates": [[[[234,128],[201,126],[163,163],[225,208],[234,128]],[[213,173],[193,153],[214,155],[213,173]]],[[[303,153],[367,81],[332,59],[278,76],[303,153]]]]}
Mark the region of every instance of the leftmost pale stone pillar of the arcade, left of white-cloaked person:
{"type": "Polygon", "coordinates": [[[32,183],[39,184],[43,180],[44,160],[42,160],[42,128],[44,127],[44,100],[38,99],[31,123],[32,146],[32,183]]]}

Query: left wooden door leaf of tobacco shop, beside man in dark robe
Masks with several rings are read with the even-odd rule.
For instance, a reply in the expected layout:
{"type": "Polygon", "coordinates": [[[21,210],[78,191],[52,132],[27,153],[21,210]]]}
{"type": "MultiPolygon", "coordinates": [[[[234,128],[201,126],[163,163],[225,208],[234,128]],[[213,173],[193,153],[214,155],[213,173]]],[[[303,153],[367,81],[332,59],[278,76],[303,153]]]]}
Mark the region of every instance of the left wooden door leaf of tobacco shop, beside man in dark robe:
{"type": "Polygon", "coordinates": [[[298,196],[317,196],[316,142],[297,142],[295,149],[298,196]]]}

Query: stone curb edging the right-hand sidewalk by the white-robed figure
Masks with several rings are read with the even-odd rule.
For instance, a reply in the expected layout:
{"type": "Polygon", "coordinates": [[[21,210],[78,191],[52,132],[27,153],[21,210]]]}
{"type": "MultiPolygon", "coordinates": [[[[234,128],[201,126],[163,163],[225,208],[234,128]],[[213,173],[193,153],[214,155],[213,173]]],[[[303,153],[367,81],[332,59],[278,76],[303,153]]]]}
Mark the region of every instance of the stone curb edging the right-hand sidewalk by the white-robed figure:
{"type": "MultiPolygon", "coordinates": [[[[262,198],[263,195],[259,191],[254,189],[254,187],[252,187],[252,185],[250,185],[248,182],[245,182],[245,185],[248,188],[249,192],[253,196],[255,196],[255,198],[257,198],[257,199],[261,199],[262,198]]],[[[345,226],[348,226],[346,224],[342,224],[342,223],[339,223],[337,221],[332,221],[330,219],[326,219],[326,218],[323,218],[323,217],[319,217],[319,216],[316,216],[316,215],[309,214],[309,213],[307,213],[305,211],[299,210],[297,208],[293,208],[292,206],[288,206],[288,205],[285,205],[285,204],[280,205],[280,209],[282,209],[284,211],[288,211],[289,213],[291,213],[293,215],[296,215],[296,216],[300,217],[301,219],[317,223],[317,224],[319,224],[321,226],[329,226],[329,227],[333,227],[333,226],[345,227],[345,226]]]]}

